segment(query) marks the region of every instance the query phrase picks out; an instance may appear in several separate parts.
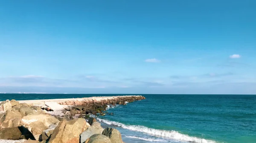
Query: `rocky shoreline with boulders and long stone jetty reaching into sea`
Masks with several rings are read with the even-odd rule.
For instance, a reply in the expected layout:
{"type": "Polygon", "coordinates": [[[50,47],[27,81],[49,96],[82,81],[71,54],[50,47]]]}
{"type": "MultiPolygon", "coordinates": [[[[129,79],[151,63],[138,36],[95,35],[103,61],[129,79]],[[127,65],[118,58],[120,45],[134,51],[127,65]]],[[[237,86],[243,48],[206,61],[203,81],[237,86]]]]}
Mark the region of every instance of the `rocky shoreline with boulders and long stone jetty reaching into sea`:
{"type": "MultiPolygon", "coordinates": [[[[0,103],[0,143],[123,143],[117,129],[103,129],[90,115],[145,97],[6,100],[0,103]]],[[[111,113],[110,113],[111,114],[111,113]]]]}

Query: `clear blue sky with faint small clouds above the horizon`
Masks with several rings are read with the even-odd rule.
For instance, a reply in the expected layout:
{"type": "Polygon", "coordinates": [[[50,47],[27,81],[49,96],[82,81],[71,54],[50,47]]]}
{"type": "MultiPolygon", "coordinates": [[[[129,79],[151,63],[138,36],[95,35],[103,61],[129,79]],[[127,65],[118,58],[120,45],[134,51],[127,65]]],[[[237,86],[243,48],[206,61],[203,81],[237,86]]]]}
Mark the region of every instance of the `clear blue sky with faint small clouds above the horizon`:
{"type": "Polygon", "coordinates": [[[255,0],[0,0],[0,92],[256,94],[255,0]]]}

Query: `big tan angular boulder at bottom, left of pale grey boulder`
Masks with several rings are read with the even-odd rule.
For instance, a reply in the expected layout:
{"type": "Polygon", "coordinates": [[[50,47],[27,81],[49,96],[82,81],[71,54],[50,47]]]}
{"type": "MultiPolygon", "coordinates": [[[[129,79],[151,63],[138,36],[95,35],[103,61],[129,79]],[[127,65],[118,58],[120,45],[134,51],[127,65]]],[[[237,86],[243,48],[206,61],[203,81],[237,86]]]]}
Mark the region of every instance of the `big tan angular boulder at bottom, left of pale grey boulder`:
{"type": "Polygon", "coordinates": [[[79,143],[81,133],[87,128],[86,120],[83,118],[61,121],[54,129],[49,143],[79,143]]]}

